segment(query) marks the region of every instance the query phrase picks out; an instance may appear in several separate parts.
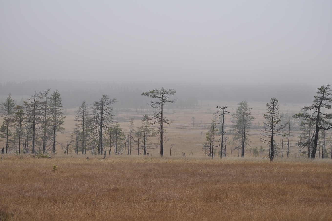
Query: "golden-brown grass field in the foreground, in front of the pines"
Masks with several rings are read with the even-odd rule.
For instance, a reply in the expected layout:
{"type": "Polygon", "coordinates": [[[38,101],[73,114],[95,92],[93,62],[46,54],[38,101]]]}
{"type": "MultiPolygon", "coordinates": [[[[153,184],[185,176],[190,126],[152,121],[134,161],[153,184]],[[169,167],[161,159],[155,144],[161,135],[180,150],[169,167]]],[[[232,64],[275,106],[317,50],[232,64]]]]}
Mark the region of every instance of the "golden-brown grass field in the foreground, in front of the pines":
{"type": "Polygon", "coordinates": [[[0,159],[0,214],[36,221],[332,220],[330,160],[89,158],[0,159]]]}

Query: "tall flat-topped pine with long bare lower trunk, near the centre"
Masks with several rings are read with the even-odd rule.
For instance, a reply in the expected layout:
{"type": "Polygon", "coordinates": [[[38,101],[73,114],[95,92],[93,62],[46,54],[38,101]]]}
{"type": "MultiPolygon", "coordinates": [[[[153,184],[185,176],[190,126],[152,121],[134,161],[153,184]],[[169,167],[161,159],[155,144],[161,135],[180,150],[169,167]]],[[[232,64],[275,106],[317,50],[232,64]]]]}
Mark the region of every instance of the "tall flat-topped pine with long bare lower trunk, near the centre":
{"type": "MultiPolygon", "coordinates": [[[[164,118],[163,115],[163,106],[165,105],[166,102],[168,103],[174,103],[176,99],[170,100],[170,95],[174,95],[175,90],[173,89],[155,89],[152,91],[144,92],[141,95],[142,96],[147,96],[149,98],[155,99],[152,100],[149,105],[150,107],[155,108],[154,115],[151,116],[151,119],[155,119],[153,123],[159,123],[160,124],[160,155],[161,157],[164,157],[164,129],[163,129],[163,123],[170,124],[172,121],[170,121],[167,118],[164,118]]],[[[166,106],[166,105],[165,105],[166,106]]]]}

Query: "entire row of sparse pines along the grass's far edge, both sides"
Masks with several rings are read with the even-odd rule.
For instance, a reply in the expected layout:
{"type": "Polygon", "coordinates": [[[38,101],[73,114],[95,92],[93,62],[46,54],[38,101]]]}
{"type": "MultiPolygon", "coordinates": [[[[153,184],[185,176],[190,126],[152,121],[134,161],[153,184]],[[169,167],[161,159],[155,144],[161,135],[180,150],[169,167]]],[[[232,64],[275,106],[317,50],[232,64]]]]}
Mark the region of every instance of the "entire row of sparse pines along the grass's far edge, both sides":
{"type": "MultiPolygon", "coordinates": [[[[332,114],[326,113],[328,109],[332,109],[332,94],[330,93],[330,85],[318,88],[317,96],[314,97],[314,104],[301,108],[300,113],[293,115],[293,118],[300,119],[299,141],[296,145],[304,154],[308,154],[309,158],[315,158],[317,144],[322,143],[322,158],[328,157],[328,147],[326,146],[326,131],[332,128],[332,114]],[[323,131],[319,133],[319,131],[323,131]]],[[[76,111],[75,129],[67,139],[67,144],[60,144],[64,153],[72,150],[74,144],[75,154],[104,154],[106,150],[111,155],[111,149],[115,154],[131,155],[132,145],[135,145],[137,154],[143,151],[143,155],[148,154],[149,148],[157,148],[159,145],[160,155],[164,155],[163,143],[167,142],[168,137],[165,136],[166,130],[163,123],[171,123],[172,121],[165,118],[163,109],[165,103],[173,104],[176,99],[171,100],[170,95],[174,95],[173,89],[156,89],[144,92],[141,96],[151,98],[148,104],[155,111],[153,114],[143,114],[141,118],[141,126],[134,129],[133,118],[128,122],[129,133],[124,134],[119,122],[113,123],[113,105],[118,102],[115,98],[110,99],[109,96],[103,95],[98,101],[95,101],[88,107],[83,101],[76,111]],[[151,122],[152,121],[152,122],[151,122]],[[152,127],[153,124],[158,125],[158,129],[152,127]],[[150,137],[159,136],[159,142],[153,143],[150,137]]],[[[215,114],[220,117],[220,130],[217,128],[216,119],[212,120],[211,125],[207,128],[206,142],[203,143],[204,154],[211,156],[219,154],[220,158],[226,156],[226,142],[233,143],[238,150],[238,157],[244,157],[245,148],[250,146],[250,128],[254,117],[251,114],[252,108],[249,108],[246,101],[238,104],[235,114],[232,114],[231,131],[224,130],[224,115],[231,114],[227,111],[228,106],[218,107],[215,114]],[[221,120],[222,117],[222,120],[221,120]],[[226,133],[231,132],[233,139],[230,141],[226,133]],[[218,138],[219,137],[219,138],[218,138]],[[237,145],[236,145],[237,142],[237,145]],[[216,153],[217,147],[220,151],[216,153]]],[[[281,152],[284,153],[284,138],[287,143],[287,157],[289,157],[289,143],[291,136],[290,120],[282,120],[282,114],[279,110],[278,100],[272,98],[266,105],[267,111],[263,114],[265,118],[264,128],[260,140],[269,145],[269,158],[271,161],[281,152]],[[281,142],[276,140],[276,136],[282,136],[281,142]],[[280,144],[282,147],[280,149],[280,144]]],[[[1,104],[3,122],[0,128],[0,136],[5,138],[6,149],[2,149],[2,153],[11,153],[9,147],[13,147],[16,154],[38,152],[45,154],[51,151],[56,154],[55,145],[59,144],[56,139],[57,133],[64,131],[64,112],[60,94],[58,90],[54,90],[50,94],[50,89],[35,92],[21,105],[15,105],[11,94],[8,95],[6,101],[1,104]],[[23,142],[23,144],[22,144],[23,142]],[[21,145],[22,144],[22,145],[21,145]],[[15,151],[16,148],[16,151],[15,151]],[[39,149],[38,149],[39,148],[39,149]]],[[[257,147],[247,148],[253,151],[253,155],[259,154],[257,147]]],[[[234,149],[233,149],[234,150],[234,149]]],[[[320,150],[320,149],[319,149],[320,150]]],[[[261,155],[265,151],[261,146],[259,149],[261,155]]],[[[318,155],[319,156],[319,155],[318,155]]],[[[332,154],[331,154],[332,158],[332,154]]]]}

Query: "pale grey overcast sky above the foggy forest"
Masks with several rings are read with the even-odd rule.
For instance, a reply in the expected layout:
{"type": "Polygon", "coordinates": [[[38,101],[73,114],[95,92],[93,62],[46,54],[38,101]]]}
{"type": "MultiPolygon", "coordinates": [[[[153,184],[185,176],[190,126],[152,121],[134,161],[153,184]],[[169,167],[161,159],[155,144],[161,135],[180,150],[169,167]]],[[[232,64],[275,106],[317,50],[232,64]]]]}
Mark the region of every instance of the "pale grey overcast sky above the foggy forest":
{"type": "Polygon", "coordinates": [[[0,82],[332,84],[332,1],[0,1],[0,82]]]}

